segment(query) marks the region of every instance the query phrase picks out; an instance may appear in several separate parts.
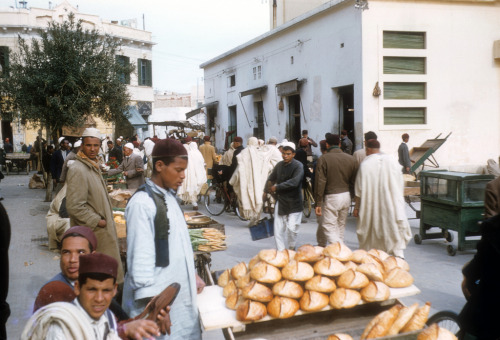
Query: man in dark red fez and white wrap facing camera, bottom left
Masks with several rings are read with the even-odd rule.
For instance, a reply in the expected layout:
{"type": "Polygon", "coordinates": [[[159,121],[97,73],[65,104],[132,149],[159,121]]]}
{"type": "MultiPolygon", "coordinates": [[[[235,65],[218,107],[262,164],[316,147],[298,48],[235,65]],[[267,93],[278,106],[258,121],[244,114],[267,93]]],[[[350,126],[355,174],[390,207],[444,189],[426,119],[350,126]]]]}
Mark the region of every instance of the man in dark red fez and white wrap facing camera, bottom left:
{"type": "Polygon", "coordinates": [[[91,253],[80,255],[79,261],[76,298],[71,303],[56,302],[38,310],[28,321],[21,339],[115,340],[160,335],[155,322],[135,320],[118,324],[108,309],[118,287],[118,262],[114,258],[91,253]]]}

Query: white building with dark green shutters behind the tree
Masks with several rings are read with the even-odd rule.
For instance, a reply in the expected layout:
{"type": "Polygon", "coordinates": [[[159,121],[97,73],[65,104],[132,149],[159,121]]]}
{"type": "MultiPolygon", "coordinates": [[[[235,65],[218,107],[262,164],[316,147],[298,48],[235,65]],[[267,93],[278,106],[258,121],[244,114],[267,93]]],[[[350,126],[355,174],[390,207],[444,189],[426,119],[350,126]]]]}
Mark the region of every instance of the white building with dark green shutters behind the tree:
{"type": "MultiPolygon", "coordinates": [[[[50,3],[50,2],[49,2],[50,3]]],[[[124,63],[136,65],[136,71],[130,77],[124,77],[130,94],[131,122],[137,122],[137,129],[147,128],[144,117],[152,112],[154,101],[152,80],[152,48],[151,32],[138,29],[134,20],[106,21],[97,15],[80,13],[77,7],[63,0],[54,8],[0,8],[0,65],[9,63],[12,53],[18,51],[18,35],[30,41],[38,37],[38,30],[48,26],[50,21],[62,22],[69,13],[75,14],[75,19],[83,21],[85,29],[97,29],[102,34],[109,34],[120,40],[122,47],[119,58],[124,63]]],[[[111,136],[113,126],[95,119],[101,133],[111,136]]],[[[2,121],[0,139],[9,137],[14,145],[19,142],[32,143],[36,131],[22,126],[19,122],[2,121]]]]}

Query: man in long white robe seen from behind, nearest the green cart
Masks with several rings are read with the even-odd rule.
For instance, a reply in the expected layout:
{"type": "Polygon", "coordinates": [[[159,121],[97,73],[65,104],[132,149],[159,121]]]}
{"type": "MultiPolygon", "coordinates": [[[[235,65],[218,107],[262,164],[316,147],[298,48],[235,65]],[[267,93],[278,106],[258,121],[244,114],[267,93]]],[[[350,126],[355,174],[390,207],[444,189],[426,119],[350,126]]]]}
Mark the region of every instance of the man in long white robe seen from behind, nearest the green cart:
{"type": "Polygon", "coordinates": [[[412,234],[405,213],[401,166],[392,156],[380,153],[377,140],[370,139],[365,146],[367,157],[356,177],[353,213],[359,217],[359,247],[404,258],[412,234]]]}

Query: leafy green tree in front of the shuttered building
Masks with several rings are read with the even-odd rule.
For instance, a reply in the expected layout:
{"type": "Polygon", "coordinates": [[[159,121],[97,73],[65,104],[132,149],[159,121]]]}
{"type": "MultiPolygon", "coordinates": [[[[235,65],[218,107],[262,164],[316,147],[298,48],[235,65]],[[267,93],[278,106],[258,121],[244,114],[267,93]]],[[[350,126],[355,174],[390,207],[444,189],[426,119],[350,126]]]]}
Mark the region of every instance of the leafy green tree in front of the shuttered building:
{"type": "Polygon", "coordinates": [[[81,127],[91,115],[126,120],[130,98],[122,80],[134,65],[116,58],[116,38],[84,29],[73,13],[39,34],[30,42],[18,38],[19,52],[0,84],[3,119],[45,127],[53,140],[63,126],[81,127]]]}

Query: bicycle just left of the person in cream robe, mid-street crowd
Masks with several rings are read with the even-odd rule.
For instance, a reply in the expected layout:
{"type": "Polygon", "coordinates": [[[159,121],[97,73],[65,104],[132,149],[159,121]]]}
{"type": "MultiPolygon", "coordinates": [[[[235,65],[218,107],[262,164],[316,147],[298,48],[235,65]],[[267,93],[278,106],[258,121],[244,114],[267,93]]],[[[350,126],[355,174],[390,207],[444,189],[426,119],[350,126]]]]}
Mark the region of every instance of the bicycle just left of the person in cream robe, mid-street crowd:
{"type": "Polygon", "coordinates": [[[240,214],[238,199],[231,197],[223,182],[216,182],[207,189],[204,196],[204,204],[207,211],[213,216],[219,216],[224,211],[234,211],[240,220],[246,221],[240,214]]]}

